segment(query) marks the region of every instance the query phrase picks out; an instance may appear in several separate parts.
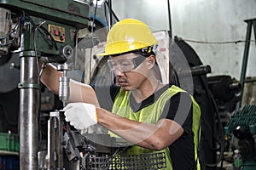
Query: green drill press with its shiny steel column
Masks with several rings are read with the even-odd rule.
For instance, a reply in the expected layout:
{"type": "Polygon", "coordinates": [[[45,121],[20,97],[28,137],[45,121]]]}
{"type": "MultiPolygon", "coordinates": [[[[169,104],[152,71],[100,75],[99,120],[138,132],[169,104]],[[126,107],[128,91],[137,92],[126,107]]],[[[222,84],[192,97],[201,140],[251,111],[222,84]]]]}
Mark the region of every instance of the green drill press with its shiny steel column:
{"type": "MultiPolygon", "coordinates": [[[[34,170],[38,169],[38,58],[47,63],[66,63],[73,53],[77,31],[87,26],[89,6],[73,0],[1,0],[0,11],[1,56],[20,56],[20,169],[34,170]]],[[[64,76],[62,84],[67,85],[64,76]]],[[[66,101],[65,93],[61,98],[66,101]]],[[[61,163],[59,166],[63,167],[61,163]]]]}

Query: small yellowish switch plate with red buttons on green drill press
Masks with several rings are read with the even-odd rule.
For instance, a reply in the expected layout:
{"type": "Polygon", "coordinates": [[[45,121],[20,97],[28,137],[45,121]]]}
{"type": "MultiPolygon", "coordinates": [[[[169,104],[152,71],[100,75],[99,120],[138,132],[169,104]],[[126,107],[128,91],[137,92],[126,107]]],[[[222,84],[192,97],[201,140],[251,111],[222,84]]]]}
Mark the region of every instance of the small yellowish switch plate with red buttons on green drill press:
{"type": "Polygon", "coordinates": [[[49,25],[48,31],[56,42],[65,42],[65,27],[49,25]]]}

